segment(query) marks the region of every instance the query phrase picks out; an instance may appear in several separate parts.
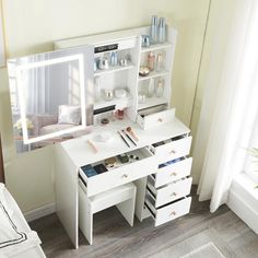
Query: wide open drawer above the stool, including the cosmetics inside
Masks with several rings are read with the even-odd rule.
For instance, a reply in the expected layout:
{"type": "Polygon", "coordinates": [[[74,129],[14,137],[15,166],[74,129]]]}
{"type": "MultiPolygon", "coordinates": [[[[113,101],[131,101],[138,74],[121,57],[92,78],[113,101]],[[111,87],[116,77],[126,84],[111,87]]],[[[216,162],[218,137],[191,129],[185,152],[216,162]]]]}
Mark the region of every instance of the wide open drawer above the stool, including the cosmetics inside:
{"type": "Polygon", "coordinates": [[[148,176],[155,169],[157,169],[155,156],[148,148],[142,148],[121,154],[120,159],[115,156],[82,166],[79,169],[79,177],[85,186],[87,197],[91,197],[148,176]],[[128,157],[128,162],[125,156],[128,157]]]}

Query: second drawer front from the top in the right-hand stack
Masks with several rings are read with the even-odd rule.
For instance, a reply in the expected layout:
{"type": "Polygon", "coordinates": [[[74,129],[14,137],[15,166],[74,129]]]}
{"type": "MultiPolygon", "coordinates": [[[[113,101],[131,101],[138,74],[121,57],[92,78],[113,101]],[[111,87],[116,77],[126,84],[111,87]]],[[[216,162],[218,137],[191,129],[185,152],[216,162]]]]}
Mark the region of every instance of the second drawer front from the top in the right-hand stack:
{"type": "Polygon", "coordinates": [[[161,187],[165,184],[189,176],[191,172],[191,163],[192,157],[188,157],[186,160],[159,168],[157,173],[155,174],[154,186],[161,187]]]}

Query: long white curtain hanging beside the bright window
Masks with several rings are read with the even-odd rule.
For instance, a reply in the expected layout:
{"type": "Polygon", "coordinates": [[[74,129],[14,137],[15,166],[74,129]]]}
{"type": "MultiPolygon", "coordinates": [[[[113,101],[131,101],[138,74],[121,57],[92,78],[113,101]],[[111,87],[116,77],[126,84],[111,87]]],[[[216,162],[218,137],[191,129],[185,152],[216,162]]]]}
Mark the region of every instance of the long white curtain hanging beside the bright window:
{"type": "Polygon", "coordinates": [[[199,199],[211,199],[211,212],[226,202],[257,116],[258,1],[213,1],[212,15],[218,21],[210,38],[192,167],[194,174],[201,172],[199,199]]]}

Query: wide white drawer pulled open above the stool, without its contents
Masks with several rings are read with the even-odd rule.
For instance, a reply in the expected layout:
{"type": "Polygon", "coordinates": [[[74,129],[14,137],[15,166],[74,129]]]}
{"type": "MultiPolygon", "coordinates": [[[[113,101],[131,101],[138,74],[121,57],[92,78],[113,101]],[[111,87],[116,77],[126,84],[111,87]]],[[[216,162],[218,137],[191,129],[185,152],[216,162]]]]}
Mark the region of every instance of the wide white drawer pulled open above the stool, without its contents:
{"type": "MultiPolygon", "coordinates": [[[[157,169],[156,159],[149,149],[142,148],[128,152],[127,154],[137,155],[139,156],[139,160],[131,163],[121,164],[118,167],[110,168],[107,172],[91,177],[87,177],[81,168],[79,169],[79,177],[85,185],[87,197],[148,176],[152,174],[153,171],[157,169]]],[[[101,163],[104,163],[104,161],[96,164],[101,163]]]]}

